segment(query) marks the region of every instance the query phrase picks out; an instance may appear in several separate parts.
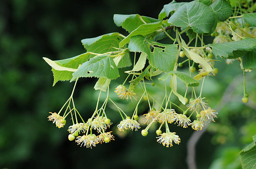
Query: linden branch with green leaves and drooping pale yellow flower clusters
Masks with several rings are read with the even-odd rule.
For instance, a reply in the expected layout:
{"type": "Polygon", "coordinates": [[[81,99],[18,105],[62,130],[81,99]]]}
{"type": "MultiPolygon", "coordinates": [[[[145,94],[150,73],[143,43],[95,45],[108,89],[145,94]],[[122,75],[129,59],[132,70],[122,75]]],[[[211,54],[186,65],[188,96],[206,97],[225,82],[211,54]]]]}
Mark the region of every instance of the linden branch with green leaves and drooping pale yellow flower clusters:
{"type": "MultiPolygon", "coordinates": [[[[192,1],[178,5],[180,7],[175,11],[163,8],[158,20],[140,15],[114,15],[115,23],[130,32],[129,35],[110,33],[84,39],[82,43],[87,52],[82,55],[57,61],[44,58],[53,68],[54,77],[59,73],[60,77],[54,80],[54,84],[58,80],[75,81],[71,96],[58,113],[50,112],[49,121],[62,128],[66,119],[72,119],[72,124],[67,129],[68,139],[75,140],[79,146],[87,148],[114,141],[115,133],[109,131],[115,131],[114,127],[118,132],[138,131],[144,123],[146,128],[141,130],[141,134],[146,137],[148,129],[152,124],[156,124],[156,141],[166,147],[172,147],[181,141],[176,132],[170,132],[172,125],[202,130],[206,123],[215,122],[217,118],[218,112],[208,106],[211,102],[208,103],[206,98],[202,97],[205,80],[213,78],[219,71],[215,67],[216,60],[213,56],[217,59],[223,57],[227,64],[240,62],[244,77],[242,101],[247,103],[245,72],[256,68],[252,67],[250,62],[256,60],[256,25],[251,22],[250,13],[236,16],[241,11],[238,12],[237,8],[233,11],[227,1],[218,4],[220,2],[222,1],[207,1],[209,4],[205,4],[206,1],[192,1]],[[193,10],[190,9],[191,6],[193,10]],[[200,6],[204,7],[204,10],[200,10],[200,6]],[[216,12],[220,9],[214,8],[219,6],[225,8],[225,14],[216,12]],[[191,16],[187,15],[191,12],[191,16]],[[191,22],[184,22],[180,17],[191,22]],[[167,30],[171,30],[171,33],[167,30]],[[183,33],[188,35],[189,40],[183,39],[183,33]],[[214,37],[212,44],[205,44],[204,37],[207,35],[214,37]],[[171,41],[170,44],[157,42],[166,37],[171,41]],[[130,56],[130,52],[134,52],[134,57],[130,56]],[[245,60],[245,57],[248,59],[245,60]],[[133,68],[125,71],[127,76],[123,84],[115,86],[114,89],[110,84],[120,76],[120,68],[131,65],[133,68]],[[185,65],[187,69],[184,69],[185,65]],[[65,72],[61,74],[62,71],[65,72]],[[94,88],[100,92],[95,110],[89,119],[83,119],[74,104],[74,89],[80,77],[99,78],[94,88]],[[183,90],[178,88],[182,87],[179,82],[184,82],[186,87],[183,90]],[[103,103],[100,101],[102,92],[107,92],[103,103]],[[116,97],[111,94],[110,98],[110,92],[115,92],[116,97]],[[124,103],[118,98],[136,101],[134,112],[126,114],[117,102],[127,102],[124,103]],[[120,115],[119,124],[115,126],[107,117],[109,104],[112,109],[114,107],[117,116],[120,115]],[[148,104],[146,108],[141,106],[145,104],[148,104]],[[144,109],[146,114],[140,112],[141,109],[144,109]],[[140,114],[143,116],[139,117],[140,114]]],[[[169,5],[177,7],[175,2],[169,5]]]]}

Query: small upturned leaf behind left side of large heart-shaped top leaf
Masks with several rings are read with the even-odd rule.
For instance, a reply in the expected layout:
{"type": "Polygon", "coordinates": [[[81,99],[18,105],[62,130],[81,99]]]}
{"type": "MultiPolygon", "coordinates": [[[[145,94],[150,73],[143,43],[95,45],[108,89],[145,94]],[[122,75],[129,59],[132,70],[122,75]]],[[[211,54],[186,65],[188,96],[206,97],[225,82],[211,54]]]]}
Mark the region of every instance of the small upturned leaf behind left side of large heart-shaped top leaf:
{"type": "Polygon", "coordinates": [[[171,12],[175,12],[179,7],[186,4],[187,2],[174,3],[174,1],[169,4],[164,5],[163,9],[158,15],[159,20],[163,20],[165,17],[168,17],[171,12]]]}

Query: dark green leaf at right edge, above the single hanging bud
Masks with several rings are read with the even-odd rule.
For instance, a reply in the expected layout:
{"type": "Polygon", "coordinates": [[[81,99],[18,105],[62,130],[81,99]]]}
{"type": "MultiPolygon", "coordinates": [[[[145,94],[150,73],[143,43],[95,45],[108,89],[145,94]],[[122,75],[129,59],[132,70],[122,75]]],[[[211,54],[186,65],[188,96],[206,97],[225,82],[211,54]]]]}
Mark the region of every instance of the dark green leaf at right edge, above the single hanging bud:
{"type": "Polygon", "coordinates": [[[256,69],[256,45],[242,57],[242,61],[244,69],[256,69]]]}

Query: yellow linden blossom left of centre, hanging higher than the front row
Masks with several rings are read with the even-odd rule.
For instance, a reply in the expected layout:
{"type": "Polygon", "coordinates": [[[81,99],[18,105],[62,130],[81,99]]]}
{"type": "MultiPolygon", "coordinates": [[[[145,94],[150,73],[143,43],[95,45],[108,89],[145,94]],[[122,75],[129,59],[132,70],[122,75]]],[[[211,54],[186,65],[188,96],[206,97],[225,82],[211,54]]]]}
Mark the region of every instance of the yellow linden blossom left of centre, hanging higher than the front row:
{"type": "Polygon", "coordinates": [[[131,101],[133,99],[137,100],[136,93],[133,92],[133,90],[127,90],[125,86],[119,85],[115,88],[115,93],[118,95],[120,99],[128,99],[130,98],[131,101]]]}

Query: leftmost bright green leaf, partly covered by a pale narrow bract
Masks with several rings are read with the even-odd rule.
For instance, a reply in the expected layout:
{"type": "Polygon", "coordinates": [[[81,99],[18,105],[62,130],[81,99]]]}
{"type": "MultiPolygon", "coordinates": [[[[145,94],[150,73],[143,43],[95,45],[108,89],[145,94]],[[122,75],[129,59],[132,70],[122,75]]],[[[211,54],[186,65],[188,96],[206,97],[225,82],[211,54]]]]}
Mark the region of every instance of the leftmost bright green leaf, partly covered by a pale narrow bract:
{"type": "MultiPolygon", "coordinates": [[[[89,60],[89,53],[84,53],[75,57],[71,57],[68,59],[64,59],[64,60],[55,60],[53,62],[55,62],[56,64],[62,66],[62,67],[69,67],[72,69],[77,69],[79,67],[79,65],[81,65],[82,63],[86,62],[89,60]]],[[[54,74],[54,83],[53,86],[56,84],[56,82],[58,81],[65,81],[65,80],[71,80],[72,79],[72,73],[74,71],[67,71],[67,70],[56,70],[57,68],[55,67],[52,68],[52,72],[54,74]]]]}

